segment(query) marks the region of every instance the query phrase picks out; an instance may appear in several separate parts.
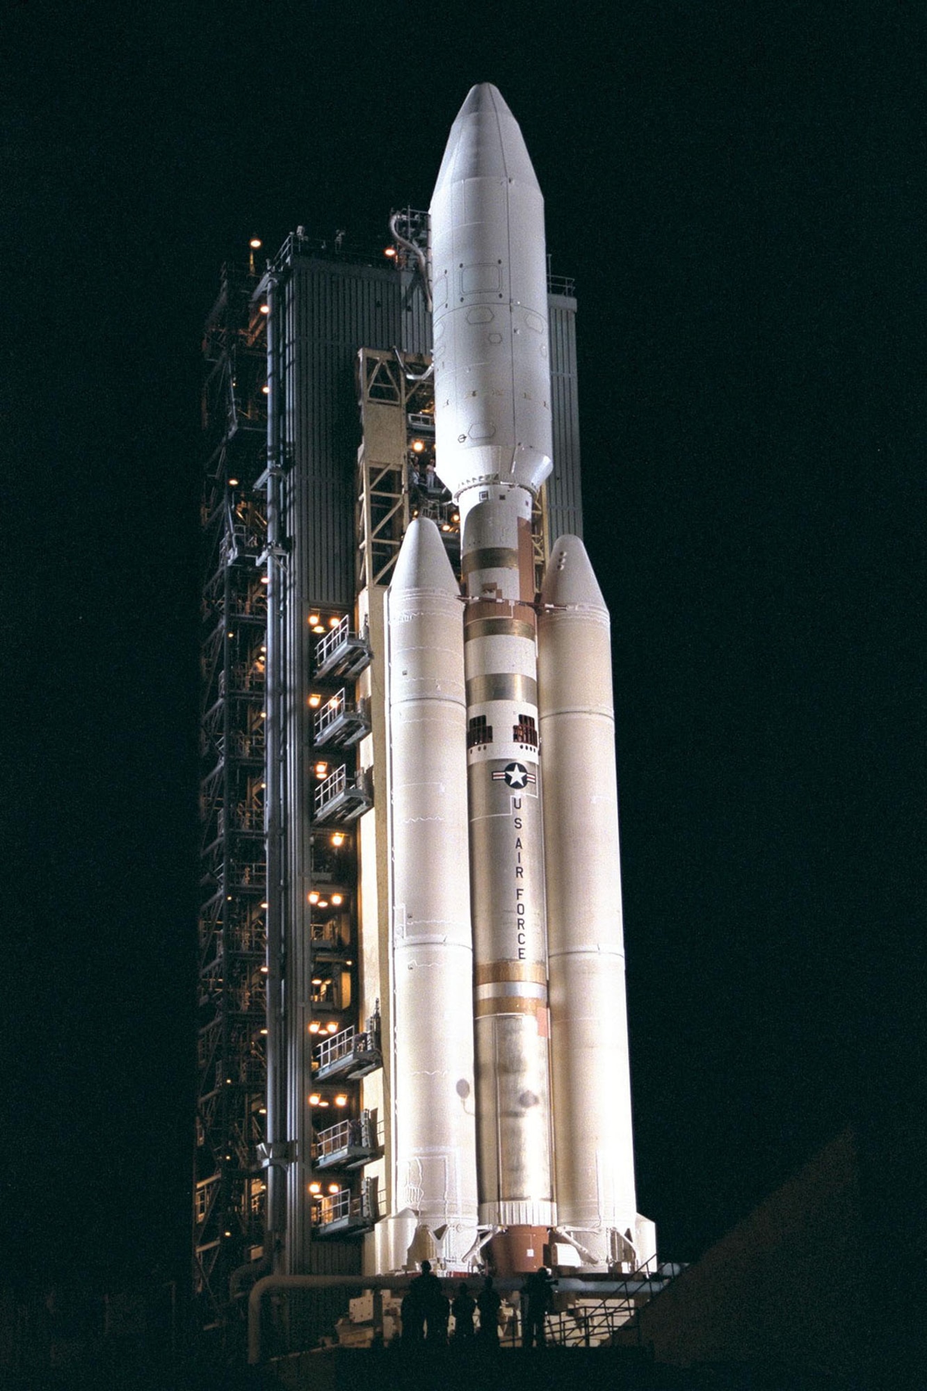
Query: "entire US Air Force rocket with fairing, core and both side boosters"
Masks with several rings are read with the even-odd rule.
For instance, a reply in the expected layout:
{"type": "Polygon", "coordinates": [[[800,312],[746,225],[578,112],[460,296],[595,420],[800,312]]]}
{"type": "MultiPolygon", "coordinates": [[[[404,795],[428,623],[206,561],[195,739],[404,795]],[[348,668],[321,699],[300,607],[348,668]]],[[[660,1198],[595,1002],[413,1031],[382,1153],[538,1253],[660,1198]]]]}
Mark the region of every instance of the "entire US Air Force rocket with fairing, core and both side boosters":
{"type": "Polygon", "coordinates": [[[434,524],[413,522],[387,600],[394,1075],[423,1071],[423,1028],[443,1061],[415,1121],[398,1123],[397,1081],[398,1246],[430,1242],[455,1269],[483,1248],[500,1273],[551,1249],[633,1269],[654,1251],[635,1210],[608,613],[578,537],[534,593],[532,509],[554,466],[544,203],[491,83],[451,128],[430,227],[436,462],[464,593],[434,524]],[[434,846],[434,818],[444,881],[426,890],[408,828],[434,846]]]}

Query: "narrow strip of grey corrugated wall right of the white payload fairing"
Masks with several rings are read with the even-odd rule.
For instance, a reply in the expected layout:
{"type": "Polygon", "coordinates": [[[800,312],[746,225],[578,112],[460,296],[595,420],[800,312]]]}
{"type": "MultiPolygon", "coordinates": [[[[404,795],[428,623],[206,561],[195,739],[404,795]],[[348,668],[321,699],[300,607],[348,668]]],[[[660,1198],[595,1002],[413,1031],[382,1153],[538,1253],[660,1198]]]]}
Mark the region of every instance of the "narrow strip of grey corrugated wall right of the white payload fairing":
{"type": "Polygon", "coordinates": [[[548,542],[558,536],[583,534],[579,484],[579,399],[576,394],[576,300],[548,295],[551,413],[554,472],[547,480],[548,542]]]}

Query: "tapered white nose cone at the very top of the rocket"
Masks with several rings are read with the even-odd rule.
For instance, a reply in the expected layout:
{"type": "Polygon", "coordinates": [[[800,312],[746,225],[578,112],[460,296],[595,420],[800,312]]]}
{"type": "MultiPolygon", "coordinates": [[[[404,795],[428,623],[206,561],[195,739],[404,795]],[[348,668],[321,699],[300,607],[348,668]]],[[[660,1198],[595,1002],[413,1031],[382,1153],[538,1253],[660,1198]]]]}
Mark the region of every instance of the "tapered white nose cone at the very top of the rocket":
{"type": "Polygon", "coordinates": [[[447,139],[434,195],[445,182],[508,178],[537,188],[537,177],[518,127],[498,88],[470,88],[447,139]]]}

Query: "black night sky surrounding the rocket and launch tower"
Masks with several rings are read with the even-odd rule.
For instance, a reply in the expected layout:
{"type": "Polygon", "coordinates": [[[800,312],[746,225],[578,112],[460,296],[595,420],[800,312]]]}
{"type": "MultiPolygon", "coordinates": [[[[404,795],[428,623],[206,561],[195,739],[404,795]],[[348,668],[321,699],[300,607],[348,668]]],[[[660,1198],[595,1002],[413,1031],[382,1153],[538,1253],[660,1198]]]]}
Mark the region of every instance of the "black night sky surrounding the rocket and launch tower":
{"type": "Polygon", "coordinates": [[[522,125],[578,282],[663,1255],[695,1257],[903,1093],[924,1038],[914,13],[7,7],[4,1267],[187,1269],[219,267],[298,223],[377,245],[391,207],[427,207],[477,81],[522,125]]]}

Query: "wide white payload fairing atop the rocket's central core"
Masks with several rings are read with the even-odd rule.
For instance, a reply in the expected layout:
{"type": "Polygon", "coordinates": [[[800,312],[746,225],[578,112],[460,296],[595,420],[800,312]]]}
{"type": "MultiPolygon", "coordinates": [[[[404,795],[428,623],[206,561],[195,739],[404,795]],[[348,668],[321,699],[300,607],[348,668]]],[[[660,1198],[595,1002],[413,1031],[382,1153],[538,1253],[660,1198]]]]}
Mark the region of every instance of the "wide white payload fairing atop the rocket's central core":
{"type": "MultiPolygon", "coordinates": [[[[431,195],[437,472],[465,513],[551,470],[544,199],[489,82],[461,107],[431,195]]],[[[533,595],[532,595],[533,598],[533,595]]]]}

